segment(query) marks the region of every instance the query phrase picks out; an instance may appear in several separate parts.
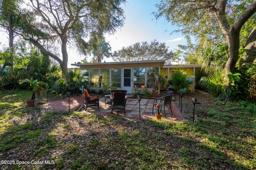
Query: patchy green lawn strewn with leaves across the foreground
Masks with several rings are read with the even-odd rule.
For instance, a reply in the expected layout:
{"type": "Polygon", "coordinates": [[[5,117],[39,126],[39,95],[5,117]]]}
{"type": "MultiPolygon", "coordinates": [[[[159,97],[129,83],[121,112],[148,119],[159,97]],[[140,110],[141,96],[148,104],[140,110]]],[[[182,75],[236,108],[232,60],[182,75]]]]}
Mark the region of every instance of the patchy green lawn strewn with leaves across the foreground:
{"type": "Polygon", "coordinates": [[[26,107],[31,96],[0,92],[1,168],[256,169],[256,104],[248,101],[214,100],[196,107],[196,123],[174,123],[26,107]]]}

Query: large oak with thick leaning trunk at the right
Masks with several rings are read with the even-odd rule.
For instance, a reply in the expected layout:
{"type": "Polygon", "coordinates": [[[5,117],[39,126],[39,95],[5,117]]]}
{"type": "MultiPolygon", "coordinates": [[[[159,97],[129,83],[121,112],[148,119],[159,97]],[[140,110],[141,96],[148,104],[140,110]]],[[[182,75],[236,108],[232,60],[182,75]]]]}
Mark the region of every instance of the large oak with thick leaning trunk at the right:
{"type": "MultiPolygon", "coordinates": [[[[256,48],[256,0],[162,0],[156,5],[156,18],[164,16],[167,21],[182,28],[185,35],[192,35],[200,44],[207,41],[226,41],[230,54],[226,63],[226,72],[236,72],[239,59],[241,38],[246,38],[242,46],[247,50],[241,62],[252,62],[256,48]],[[250,23],[250,25],[248,25],[250,23]],[[240,35],[241,29],[250,29],[248,36],[240,35]]],[[[228,78],[226,89],[230,89],[228,78]]],[[[232,100],[234,96],[224,94],[224,100],[232,100]]]]}

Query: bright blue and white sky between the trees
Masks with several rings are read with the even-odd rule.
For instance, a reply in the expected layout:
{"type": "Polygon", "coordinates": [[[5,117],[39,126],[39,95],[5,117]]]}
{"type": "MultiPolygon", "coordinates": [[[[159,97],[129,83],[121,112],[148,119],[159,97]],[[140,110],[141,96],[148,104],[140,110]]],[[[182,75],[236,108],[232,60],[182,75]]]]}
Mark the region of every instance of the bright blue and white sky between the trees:
{"type": "MultiPolygon", "coordinates": [[[[166,43],[170,50],[178,49],[178,45],[186,45],[186,39],[177,33],[172,33],[177,27],[168,23],[164,18],[156,20],[152,12],[157,12],[155,4],[160,0],[127,0],[121,7],[124,10],[126,19],[124,26],[119,28],[113,35],[105,35],[106,41],[112,47],[112,51],[118,51],[122,47],[128,47],[137,42],[147,41],[150,43],[156,39],[159,43],[166,43]]],[[[0,33],[0,41],[4,43],[6,33],[0,33]]],[[[8,41],[5,43],[8,47],[8,41]]],[[[0,44],[1,47],[3,44],[0,44]]],[[[84,57],[76,53],[76,49],[68,49],[68,67],[73,63],[80,62],[84,57]]],[[[90,59],[87,59],[90,61],[90,59]]],[[[103,60],[104,61],[104,60],[103,60]]],[[[112,59],[105,59],[112,62],[112,59]]]]}

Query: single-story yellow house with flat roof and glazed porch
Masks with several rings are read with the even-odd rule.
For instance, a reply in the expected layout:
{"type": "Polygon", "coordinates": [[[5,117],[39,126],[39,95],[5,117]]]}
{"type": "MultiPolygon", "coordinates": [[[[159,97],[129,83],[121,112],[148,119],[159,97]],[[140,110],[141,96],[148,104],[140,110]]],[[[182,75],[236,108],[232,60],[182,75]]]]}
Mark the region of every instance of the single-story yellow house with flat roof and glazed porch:
{"type": "Polygon", "coordinates": [[[153,90],[154,74],[162,74],[169,80],[177,68],[186,72],[187,76],[194,76],[196,68],[201,68],[201,65],[164,65],[164,63],[164,60],[155,60],[71,65],[80,69],[80,80],[87,82],[88,87],[115,86],[118,89],[127,90],[129,94],[132,94],[133,88],[147,87],[153,90]]]}

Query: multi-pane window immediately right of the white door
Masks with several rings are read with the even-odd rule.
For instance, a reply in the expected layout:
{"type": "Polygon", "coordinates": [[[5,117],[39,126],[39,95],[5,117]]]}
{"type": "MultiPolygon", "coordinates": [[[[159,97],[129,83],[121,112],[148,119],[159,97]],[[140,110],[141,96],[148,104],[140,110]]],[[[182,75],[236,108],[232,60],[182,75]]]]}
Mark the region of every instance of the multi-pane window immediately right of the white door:
{"type": "Polygon", "coordinates": [[[134,68],[133,86],[135,88],[145,87],[145,67],[134,68]]]}

